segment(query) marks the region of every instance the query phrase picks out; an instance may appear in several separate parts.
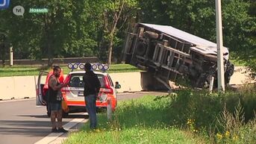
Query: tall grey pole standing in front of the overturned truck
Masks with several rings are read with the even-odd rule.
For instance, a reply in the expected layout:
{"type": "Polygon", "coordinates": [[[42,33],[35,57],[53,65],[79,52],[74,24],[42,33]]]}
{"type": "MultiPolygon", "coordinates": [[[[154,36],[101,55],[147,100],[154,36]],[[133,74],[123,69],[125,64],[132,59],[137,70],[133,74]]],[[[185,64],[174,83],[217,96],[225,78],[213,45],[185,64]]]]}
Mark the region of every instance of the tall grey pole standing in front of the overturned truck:
{"type": "Polygon", "coordinates": [[[225,91],[223,41],[222,41],[222,6],[221,0],[216,0],[216,40],[217,40],[217,64],[218,64],[218,91],[225,91]]]}

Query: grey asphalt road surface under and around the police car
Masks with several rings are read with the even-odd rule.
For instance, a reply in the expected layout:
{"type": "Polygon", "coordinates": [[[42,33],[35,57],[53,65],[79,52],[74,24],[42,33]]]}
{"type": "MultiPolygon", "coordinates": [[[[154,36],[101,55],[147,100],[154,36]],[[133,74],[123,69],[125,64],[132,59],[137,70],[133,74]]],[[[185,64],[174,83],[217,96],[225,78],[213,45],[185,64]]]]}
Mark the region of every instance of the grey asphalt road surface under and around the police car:
{"type": "MultiPolygon", "coordinates": [[[[165,93],[120,93],[118,101],[139,98],[145,95],[165,93]]],[[[63,125],[75,118],[87,119],[83,113],[72,113],[63,119],[63,125]]],[[[0,144],[36,143],[51,132],[51,122],[46,116],[46,107],[37,107],[35,99],[0,102],[0,144]]]]}

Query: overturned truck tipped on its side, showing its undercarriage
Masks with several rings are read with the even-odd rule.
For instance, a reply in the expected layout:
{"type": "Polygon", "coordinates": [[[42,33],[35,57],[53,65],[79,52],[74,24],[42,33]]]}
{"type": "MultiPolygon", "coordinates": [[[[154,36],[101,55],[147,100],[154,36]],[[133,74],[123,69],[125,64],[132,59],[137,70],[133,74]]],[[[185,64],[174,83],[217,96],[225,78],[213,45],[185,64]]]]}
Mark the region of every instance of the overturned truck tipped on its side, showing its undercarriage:
{"type": "MultiPolygon", "coordinates": [[[[228,84],[234,65],[228,60],[228,48],[223,48],[225,84],[228,84]]],[[[146,71],[144,90],[170,90],[169,81],[181,80],[192,87],[209,87],[211,78],[214,87],[217,86],[216,43],[177,28],[138,23],[134,32],[128,33],[124,53],[125,63],[146,71]]]]}

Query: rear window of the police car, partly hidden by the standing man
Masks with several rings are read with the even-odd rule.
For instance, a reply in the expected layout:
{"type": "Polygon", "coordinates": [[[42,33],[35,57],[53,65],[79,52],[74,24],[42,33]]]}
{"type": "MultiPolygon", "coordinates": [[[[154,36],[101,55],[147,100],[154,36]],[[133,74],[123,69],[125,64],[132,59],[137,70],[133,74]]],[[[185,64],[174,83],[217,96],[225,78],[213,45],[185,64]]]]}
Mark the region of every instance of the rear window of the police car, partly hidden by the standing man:
{"type": "MultiPolygon", "coordinates": [[[[83,74],[72,74],[69,87],[84,87],[83,74]]],[[[101,87],[104,87],[104,75],[97,75],[99,78],[99,82],[101,83],[101,87]]]]}

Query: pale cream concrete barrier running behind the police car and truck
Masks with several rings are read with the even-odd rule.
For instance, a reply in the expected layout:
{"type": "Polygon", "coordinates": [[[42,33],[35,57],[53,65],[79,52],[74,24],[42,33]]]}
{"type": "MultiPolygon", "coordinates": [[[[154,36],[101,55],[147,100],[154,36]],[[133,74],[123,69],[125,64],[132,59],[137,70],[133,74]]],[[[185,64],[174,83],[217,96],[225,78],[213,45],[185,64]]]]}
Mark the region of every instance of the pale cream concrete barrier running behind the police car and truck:
{"type": "MultiPolygon", "coordinates": [[[[243,67],[236,67],[230,84],[244,84],[249,81],[248,74],[243,67]]],[[[110,77],[113,84],[116,81],[121,84],[121,88],[117,90],[119,93],[142,90],[140,72],[110,73],[110,77]]],[[[42,78],[42,81],[45,79],[42,78]]],[[[37,76],[2,77],[0,78],[0,99],[35,98],[36,84],[37,76]]]]}

